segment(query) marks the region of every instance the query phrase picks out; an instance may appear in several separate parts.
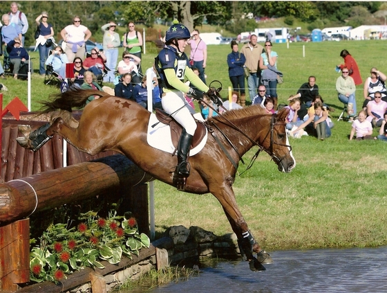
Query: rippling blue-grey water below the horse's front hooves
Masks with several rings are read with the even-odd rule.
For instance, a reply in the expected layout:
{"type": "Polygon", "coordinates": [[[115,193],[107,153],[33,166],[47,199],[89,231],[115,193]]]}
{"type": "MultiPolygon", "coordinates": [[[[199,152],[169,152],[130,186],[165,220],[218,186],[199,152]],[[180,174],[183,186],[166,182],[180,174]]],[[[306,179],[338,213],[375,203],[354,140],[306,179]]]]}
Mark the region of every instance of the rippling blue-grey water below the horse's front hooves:
{"type": "Polygon", "coordinates": [[[200,263],[200,274],[147,292],[387,292],[387,247],[272,252],[274,264],[252,272],[242,260],[200,263]]]}

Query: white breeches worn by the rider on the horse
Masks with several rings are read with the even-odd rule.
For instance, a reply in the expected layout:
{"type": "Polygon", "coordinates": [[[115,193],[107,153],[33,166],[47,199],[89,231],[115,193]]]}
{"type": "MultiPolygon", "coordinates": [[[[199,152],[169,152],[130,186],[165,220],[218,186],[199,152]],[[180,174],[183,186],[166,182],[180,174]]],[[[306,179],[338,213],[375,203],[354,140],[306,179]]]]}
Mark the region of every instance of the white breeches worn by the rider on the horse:
{"type": "Polygon", "coordinates": [[[187,134],[195,134],[196,122],[187,108],[190,106],[187,105],[184,94],[182,94],[181,91],[165,93],[164,96],[162,96],[161,104],[164,111],[171,114],[171,116],[185,128],[187,134]]]}

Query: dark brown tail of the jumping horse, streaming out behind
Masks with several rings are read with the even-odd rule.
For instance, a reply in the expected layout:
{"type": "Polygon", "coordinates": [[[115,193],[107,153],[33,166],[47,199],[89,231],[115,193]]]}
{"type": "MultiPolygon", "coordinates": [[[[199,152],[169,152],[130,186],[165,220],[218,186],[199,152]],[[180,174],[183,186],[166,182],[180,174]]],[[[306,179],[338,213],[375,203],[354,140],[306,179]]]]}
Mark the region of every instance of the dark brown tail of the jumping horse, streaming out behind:
{"type": "Polygon", "coordinates": [[[81,109],[86,105],[86,101],[90,96],[111,96],[104,91],[95,89],[71,89],[61,94],[56,94],[50,100],[40,102],[43,106],[40,109],[41,113],[53,112],[57,109],[71,112],[73,108],[81,109]]]}

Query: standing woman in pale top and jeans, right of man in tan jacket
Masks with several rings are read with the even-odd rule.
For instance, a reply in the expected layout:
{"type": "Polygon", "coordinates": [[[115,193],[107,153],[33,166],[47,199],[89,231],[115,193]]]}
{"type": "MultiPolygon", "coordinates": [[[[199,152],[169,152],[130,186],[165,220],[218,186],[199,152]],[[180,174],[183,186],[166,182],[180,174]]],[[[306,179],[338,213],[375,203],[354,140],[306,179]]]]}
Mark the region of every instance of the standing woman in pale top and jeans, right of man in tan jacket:
{"type": "Polygon", "coordinates": [[[274,107],[277,105],[277,76],[281,75],[277,70],[277,53],[272,51],[272,42],[265,42],[266,52],[261,54],[259,68],[262,69],[262,82],[267,89],[267,94],[274,100],[274,107]]]}

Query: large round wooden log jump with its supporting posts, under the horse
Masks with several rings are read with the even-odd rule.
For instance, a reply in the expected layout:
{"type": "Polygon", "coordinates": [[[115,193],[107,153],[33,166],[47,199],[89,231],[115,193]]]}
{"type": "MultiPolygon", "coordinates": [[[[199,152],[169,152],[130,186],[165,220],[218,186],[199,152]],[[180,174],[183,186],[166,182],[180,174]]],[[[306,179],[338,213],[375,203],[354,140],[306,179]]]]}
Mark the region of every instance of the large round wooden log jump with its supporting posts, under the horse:
{"type": "Polygon", "coordinates": [[[115,154],[1,183],[0,292],[15,291],[17,283],[29,281],[28,217],[32,213],[126,188],[136,196],[131,203],[136,207],[133,214],[138,217],[139,230],[149,235],[147,185],[144,183],[152,179],[122,154],[115,154]]]}

